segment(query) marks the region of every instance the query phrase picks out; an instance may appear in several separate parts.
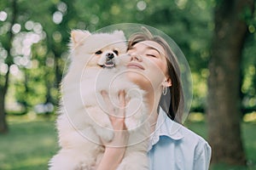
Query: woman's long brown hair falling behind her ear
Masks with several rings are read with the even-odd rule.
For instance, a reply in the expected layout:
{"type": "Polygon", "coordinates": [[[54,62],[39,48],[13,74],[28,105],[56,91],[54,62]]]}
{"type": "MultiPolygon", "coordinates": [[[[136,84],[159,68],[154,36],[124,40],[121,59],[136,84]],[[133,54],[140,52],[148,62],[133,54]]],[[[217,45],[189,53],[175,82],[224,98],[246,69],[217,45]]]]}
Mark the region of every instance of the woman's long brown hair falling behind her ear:
{"type": "Polygon", "coordinates": [[[142,30],[143,32],[137,32],[131,35],[128,41],[128,49],[137,42],[143,41],[157,42],[165,49],[167,70],[172,81],[172,86],[168,88],[166,95],[161,95],[159,106],[166,111],[167,116],[172,120],[182,123],[184,99],[177,57],[164,38],[153,36],[145,27],[142,30]]]}

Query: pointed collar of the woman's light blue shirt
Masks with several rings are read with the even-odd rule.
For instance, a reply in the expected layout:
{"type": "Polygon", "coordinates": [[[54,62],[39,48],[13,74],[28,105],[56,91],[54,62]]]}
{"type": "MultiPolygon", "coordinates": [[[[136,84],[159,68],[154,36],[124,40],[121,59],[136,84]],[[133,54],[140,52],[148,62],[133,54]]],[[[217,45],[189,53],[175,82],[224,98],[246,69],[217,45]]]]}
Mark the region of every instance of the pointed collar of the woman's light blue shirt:
{"type": "Polygon", "coordinates": [[[180,128],[181,124],[172,121],[166,112],[160,108],[154,133],[151,134],[151,146],[160,140],[160,136],[166,136],[173,140],[183,139],[183,133],[180,128]]]}

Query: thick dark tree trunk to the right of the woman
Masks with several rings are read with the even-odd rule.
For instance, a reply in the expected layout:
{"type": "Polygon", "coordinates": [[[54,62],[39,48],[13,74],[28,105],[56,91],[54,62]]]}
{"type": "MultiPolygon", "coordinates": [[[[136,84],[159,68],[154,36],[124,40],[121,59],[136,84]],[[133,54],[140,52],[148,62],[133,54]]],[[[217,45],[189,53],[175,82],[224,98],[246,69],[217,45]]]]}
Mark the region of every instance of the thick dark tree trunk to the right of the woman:
{"type": "Polygon", "coordinates": [[[253,0],[216,1],[208,77],[207,122],[212,163],[246,165],[241,140],[241,53],[253,0]],[[249,11],[249,13],[247,13],[249,11]]]}

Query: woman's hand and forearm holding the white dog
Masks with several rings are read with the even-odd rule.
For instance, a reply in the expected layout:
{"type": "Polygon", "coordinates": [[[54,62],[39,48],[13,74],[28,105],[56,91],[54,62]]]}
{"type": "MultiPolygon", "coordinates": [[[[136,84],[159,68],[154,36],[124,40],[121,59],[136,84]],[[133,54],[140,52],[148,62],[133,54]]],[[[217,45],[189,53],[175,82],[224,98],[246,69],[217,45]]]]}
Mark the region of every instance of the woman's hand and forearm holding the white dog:
{"type": "Polygon", "coordinates": [[[102,97],[106,105],[108,105],[108,116],[113,126],[114,136],[110,142],[102,140],[102,143],[105,145],[105,152],[97,170],[111,170],[116,169],[123,160],[126,144],[129,139],[129,133],[125,127],[125,91],[119,92],[119,107],[113,106],[106,91],[102,91],[102,97]]]}

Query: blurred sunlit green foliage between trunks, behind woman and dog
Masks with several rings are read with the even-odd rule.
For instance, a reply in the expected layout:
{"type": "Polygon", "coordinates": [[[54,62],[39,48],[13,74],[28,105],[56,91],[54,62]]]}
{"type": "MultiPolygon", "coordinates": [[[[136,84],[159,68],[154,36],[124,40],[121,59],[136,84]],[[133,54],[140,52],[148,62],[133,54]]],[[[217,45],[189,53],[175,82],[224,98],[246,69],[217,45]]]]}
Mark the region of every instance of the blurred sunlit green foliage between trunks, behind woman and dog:
{"type": "MultiPolygon", "coordinates": [[[[202,111],[206,105],[207,64],[214,28],[212,9],[219,1],[161,0],[155,3],[153,0],[124,0],[120,3],[110,0],[106,3],[92,0],[19,0],[17,3],[16,29],[9,28],[12,17],[10,1],[3,0],[0,4],[0,12],[8,14],[6,20],[0,21],[0,75],[3,76],[6,71],[4,63],[7,62],[3,54],[9,48],[7,32],[11,29],[15,33],[11,47],[14,66],[10,84],[15,92],[9,91],[9,101],[18,102],[28,110],[32,110],[34,105],[49,102],[56,105],[70,31],[96,31],[104,26],[134,22],[154,26],[177,42],[193,74],[192,110],[202,111]]],[[[247,19],[246,9],[244,18],[247,19]]],[[[241,67],[242,105],[250,108],[253,108],[256,96],[255,20],[247,19],[249,33],[241,67]]]]}

